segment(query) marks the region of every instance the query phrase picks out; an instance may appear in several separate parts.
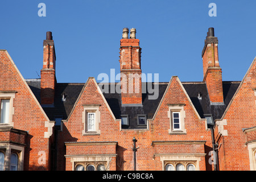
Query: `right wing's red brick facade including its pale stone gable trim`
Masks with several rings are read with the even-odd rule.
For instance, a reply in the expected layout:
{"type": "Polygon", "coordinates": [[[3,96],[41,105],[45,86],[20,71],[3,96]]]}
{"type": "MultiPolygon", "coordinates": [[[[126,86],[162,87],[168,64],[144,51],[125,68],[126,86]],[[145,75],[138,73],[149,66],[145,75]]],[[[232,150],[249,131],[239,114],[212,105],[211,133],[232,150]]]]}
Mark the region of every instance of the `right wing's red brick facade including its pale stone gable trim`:
{"type": "Polygon", "coordinates": [[[256,125],[255,73],[254,60],[224,115],[216,122],[221,170],[256,170],[256,135],[253,130],[256,125]],[[250,156],[253,152],[254,156],[250,156]]]}

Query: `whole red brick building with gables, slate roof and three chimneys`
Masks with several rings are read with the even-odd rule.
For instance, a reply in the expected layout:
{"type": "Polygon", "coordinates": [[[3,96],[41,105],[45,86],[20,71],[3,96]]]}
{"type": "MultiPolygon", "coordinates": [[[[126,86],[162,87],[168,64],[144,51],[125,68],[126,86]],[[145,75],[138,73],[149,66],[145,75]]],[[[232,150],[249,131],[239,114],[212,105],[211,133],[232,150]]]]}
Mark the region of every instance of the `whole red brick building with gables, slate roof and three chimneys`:
{"type": "Polygon", "coordinates": [[[142,82],[135,28],[128,34],[118,83],[58,83],[51,32],[40,79],[24,80],[0,51],[0,169],[256,170],[255,60],[241,82],[222,81],[209,28],[203,81],[142,82]]]}

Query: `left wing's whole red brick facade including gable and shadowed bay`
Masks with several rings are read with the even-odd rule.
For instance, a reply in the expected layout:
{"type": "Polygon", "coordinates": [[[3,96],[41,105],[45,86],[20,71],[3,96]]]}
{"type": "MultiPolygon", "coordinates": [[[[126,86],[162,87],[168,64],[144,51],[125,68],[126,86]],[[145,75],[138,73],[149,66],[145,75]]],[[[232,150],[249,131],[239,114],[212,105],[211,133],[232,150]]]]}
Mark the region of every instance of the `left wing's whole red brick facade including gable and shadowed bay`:
{"type": "MultiPolygon", "coordinates": [[[[19,161],[23,166],[19,169],[49,170],[49,137],[53,123],[50,123],[9,53],[0,50],[0,58],[0,97],[10,99],[12,105],[9,123],[0,124],[0,151],[4,152],[6,157],[8,152],[23,155],[23,161],[19,161]],[[6,131],[8,128],[9,131],[6,131]],[[2,134],[5,137],[2,137],[2,134]],[[13,149],[7,151],[9,147],[13,149]],[[39,162],[39,158],[42,162],[39,162]]],[[[5,169],[10,169],[7,162],[5,169]]]]}

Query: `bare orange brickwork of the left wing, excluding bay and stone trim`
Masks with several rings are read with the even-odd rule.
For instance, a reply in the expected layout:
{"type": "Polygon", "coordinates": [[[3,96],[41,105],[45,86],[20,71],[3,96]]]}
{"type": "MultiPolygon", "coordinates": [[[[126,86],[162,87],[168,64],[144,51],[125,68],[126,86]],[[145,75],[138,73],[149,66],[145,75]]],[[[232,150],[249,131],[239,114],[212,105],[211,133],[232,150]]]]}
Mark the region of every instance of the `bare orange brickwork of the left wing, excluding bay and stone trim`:
{"type": "Polygon", "coordinates": [[[0,50],[0,73],[0,91],[16,92],[13,104],[14,129],[28,131],[24,170],[47,170],[49,169],[49,138],[44,138],[44,132],[48,131],[45,127],[48,118],[5,50],[0,50]],[[38,163],[39,151],[44,151],[46,154],[45,164],[38,163]]]}

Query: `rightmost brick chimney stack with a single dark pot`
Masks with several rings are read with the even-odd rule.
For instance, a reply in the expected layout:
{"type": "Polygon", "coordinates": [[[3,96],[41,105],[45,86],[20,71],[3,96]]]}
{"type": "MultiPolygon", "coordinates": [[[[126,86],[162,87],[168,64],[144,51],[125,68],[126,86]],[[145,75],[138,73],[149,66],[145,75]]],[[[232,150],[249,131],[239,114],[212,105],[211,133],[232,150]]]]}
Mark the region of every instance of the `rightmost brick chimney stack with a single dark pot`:
{"type": "Polygon", "coordinates": [[[223,105],[222,71],[218,62],[218,39],[214,28],[209,28],[202,52],[204,80],[212,105],[223,105]]]}

